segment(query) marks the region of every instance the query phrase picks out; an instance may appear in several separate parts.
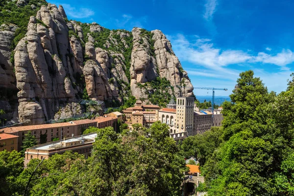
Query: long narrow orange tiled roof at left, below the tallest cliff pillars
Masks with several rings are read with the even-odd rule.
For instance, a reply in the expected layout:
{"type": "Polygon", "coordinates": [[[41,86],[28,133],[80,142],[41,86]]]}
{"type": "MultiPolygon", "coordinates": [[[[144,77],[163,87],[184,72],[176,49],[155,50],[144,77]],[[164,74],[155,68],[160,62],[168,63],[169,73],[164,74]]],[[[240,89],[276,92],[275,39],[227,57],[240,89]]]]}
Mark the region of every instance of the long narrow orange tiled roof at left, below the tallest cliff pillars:
{"type": "MultiPolygon", "coordinates": [[[[74,122],[74,121],[73,121],[74,122]]],[[[13,126],[13,127],[6,127],[1,130],[4,130],[5,133],[15,133],[19,131],[29,131],[29,130],[35,130],[35,129],[49,129],[49,128],[58,128],[62,126],[74,126],[73,123],[51,123],[51,124],[36,124],[36,125],[27,125],[27,126],[13,126]]]]}

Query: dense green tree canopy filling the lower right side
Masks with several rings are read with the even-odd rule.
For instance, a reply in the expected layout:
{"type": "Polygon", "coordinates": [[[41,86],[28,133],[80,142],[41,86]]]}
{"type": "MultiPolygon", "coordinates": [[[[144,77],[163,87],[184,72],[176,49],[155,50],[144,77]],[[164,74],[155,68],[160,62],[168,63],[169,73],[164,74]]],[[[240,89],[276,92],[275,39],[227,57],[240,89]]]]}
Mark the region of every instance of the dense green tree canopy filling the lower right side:
{"type": "Polygon", "coordinates": [[[223,103],[221,128],[189,137],[181,146],[186,157],[199,161],[208,195],[293,195],[293,81],[276,96],[247,71],[230,98],[223,103]]]}

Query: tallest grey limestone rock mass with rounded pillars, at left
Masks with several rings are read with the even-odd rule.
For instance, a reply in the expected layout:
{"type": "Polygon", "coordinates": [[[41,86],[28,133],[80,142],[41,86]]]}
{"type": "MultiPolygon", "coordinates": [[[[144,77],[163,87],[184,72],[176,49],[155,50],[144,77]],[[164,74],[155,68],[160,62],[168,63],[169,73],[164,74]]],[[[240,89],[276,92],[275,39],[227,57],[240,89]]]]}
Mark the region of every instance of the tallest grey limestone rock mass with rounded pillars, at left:
{"type": "Polygon", "coordinates": [[[82,73],[81,43],[74,36],[69,38],[56,5],[42,6],[37,17],[46,26],[31,17],[27,33],[15,49],[19,119],[26,124],[52,119],[62,107],[61,100],[75,102],[75,95],[81,91],[72,85],[76,73],[82,73]]]}

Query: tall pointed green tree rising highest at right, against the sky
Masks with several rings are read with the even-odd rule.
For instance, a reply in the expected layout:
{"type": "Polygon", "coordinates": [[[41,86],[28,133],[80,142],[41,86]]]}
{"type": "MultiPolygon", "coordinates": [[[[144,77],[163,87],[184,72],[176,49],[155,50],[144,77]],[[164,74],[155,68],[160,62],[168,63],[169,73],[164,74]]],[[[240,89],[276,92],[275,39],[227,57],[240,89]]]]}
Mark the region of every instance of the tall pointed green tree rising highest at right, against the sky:
{"type": "Polygon", "coordinates": [[[230,95],[223,103],[223,143],[202,168],[208,195],[267,195],[276,193],[272,174],[276,167],[274,124],[270,121],[268,93],[252,71],[240,74],[230,95]]]}

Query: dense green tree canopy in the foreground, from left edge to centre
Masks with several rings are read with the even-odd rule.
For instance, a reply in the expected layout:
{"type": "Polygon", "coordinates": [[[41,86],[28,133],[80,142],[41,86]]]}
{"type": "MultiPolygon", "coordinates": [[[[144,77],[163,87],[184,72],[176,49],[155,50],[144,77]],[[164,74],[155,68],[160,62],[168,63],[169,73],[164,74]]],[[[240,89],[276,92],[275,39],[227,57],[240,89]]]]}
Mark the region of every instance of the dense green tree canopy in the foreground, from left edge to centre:
{"type": "Polygon", "coordinates": [[[179,195],[185,162],[166,124],[136,124],[122,134],[113,127],[89,132],[97,138],[88,159],[67,151],[32,159],[24,169],[21,153],[0,152],[0,195],[179,195]]]}

